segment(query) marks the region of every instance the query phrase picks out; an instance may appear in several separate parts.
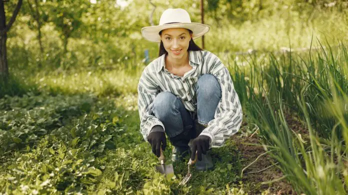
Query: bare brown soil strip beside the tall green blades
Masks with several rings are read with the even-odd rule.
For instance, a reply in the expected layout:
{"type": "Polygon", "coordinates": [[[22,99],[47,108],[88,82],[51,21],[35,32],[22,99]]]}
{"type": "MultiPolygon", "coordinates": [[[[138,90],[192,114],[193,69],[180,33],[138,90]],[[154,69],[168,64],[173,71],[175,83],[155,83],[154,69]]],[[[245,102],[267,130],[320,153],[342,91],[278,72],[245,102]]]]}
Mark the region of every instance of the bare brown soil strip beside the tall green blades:
{"type": "MultiPolygon", "coordinates": [[[[286,117],[288,127],[306,137],[308,131],[305,126],[296,118],[288,116],[286,117]]],[[[246,122],[243,122],[242,126],[247,126],[246,122]]],[[[242,129],[235,136],[233,136],[233,141],[239,151],[240,157],[242,159],[242,167],[246,167],[251,162],[253,162],[260,154],[264,153],[265,150],[260,145],[260,138],[257,134],[252,136],[243,135],[242,129]]],[[[261,184],[262,182],[269,182],[283,176],[282,172],[276,166],[272,166],[259,173],[251,173],[261,171],[271,165],[274,165],[276,161],[272,159],[269,155],[261,156],[255,163],[243,171],[242,181],[245,191],[248,194],[261,194],[262,192],[268,190],[271,195],[289,195],[297,194],[291,187],[290,183],[286,179],[271,183],[271,184],[261,184]],[[250,173],[250,174],[248,174],[250,173]]]]}

